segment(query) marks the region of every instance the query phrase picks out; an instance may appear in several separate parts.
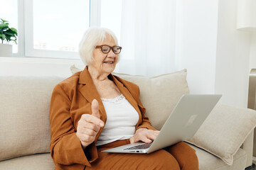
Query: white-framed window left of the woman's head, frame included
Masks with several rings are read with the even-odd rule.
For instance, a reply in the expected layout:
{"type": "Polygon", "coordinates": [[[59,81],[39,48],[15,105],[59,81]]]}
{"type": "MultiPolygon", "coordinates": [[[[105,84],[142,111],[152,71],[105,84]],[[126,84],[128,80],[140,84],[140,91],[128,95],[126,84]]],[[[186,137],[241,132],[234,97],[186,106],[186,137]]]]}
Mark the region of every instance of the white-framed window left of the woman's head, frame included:
{"type": "Polygon", "coordinates": [[[90,27],[90,0],[25,0],[25,55],[79,59],[78,44],[90,27]]]}

